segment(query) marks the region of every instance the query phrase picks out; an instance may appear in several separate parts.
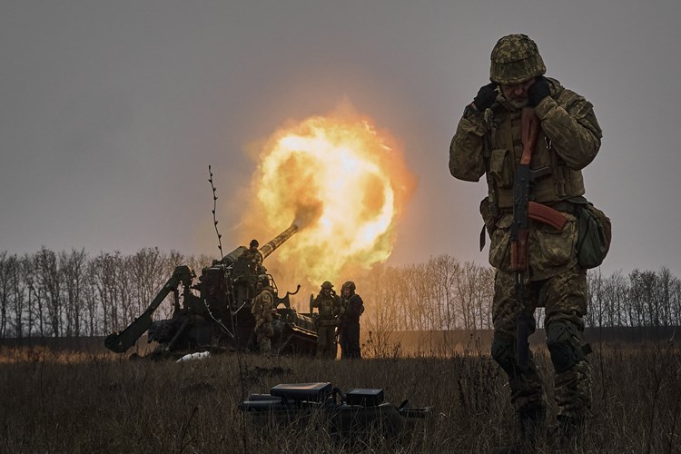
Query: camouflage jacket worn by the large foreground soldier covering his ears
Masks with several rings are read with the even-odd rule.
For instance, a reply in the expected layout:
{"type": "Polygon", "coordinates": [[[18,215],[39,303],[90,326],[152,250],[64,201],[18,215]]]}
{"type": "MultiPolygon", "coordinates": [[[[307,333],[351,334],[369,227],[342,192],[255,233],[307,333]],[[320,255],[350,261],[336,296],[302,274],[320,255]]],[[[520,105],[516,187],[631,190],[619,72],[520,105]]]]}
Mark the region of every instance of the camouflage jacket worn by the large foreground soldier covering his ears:
{"type": "MultiPolygon", "coordinates": [[[[548,205],[584,194],[581,169],[596,157],[601,129],[593,106],[587,100],[548,78],[550,96],[535,113],[541,121],[537,146],[530,168],[550,168],[530,188],[530,199],[548,205]]],[[[521,110],[513,109],[498,94],[497,103],[484,114],[461,118],[449,146],[449,172],[459,180],[477,182],[488,175],[489,198],[480,212],[491,237],[489,263],[510,271],[510,226],[513,222],[513,177],[522,154],[521,110]],[[484,146],[489,140],[489,147],[484,146]],[[492,218],[489,200],[496,201],[499,216],[492,218]]],[[[557,205],[558,206],[558,205],[557,205]]],[[[575,217],[566,213],[562,231],[539,222],[530,222],[529,277],[547,279],[577,264],[575,217]]]]}

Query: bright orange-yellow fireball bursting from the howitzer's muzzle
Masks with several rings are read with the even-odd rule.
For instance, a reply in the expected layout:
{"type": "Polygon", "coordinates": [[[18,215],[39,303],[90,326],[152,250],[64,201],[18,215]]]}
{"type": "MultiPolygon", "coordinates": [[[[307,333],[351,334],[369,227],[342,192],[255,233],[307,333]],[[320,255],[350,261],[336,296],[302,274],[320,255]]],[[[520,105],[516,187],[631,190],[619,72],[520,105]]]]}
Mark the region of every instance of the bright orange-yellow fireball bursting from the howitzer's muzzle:
{"type": "Polygon", "coordinates": [[[319,285],[390,257],[415,179],[389,133],[356,114],[311,117],[273,133],[258,162],[244,224],[261,244],[291,223],[300,229],[268,269],[319,285]]]}

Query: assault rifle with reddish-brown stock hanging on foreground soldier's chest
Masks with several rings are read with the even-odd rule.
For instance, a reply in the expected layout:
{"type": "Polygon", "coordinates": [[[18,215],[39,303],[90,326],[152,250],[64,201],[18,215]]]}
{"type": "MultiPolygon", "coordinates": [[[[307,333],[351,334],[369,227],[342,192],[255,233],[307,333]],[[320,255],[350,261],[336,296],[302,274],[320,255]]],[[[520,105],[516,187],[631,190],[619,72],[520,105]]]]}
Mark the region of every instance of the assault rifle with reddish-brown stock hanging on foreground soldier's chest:
{"type": "Polygon", "coordinates": [[[533,170],[529,168],[532,152],[537,145],[540,121],[534,109],[525,107],[522,111],[523,153],[516,166],[513,179],[513,224],[511,225],[511,270],[515,271],[515,289],[520,311],[516,321],[516,362],[520,370],[528,367],[529,342],[534,331],[535,320],[531,312],[524,311],[528,304],[526,284],[528,280],[528,238],[529,220],[548,223],[563,230],[568,219],[562,212],[538,202],[529,200],[530,185],[539,177],[551,173],[550,167],[533,170]]]}

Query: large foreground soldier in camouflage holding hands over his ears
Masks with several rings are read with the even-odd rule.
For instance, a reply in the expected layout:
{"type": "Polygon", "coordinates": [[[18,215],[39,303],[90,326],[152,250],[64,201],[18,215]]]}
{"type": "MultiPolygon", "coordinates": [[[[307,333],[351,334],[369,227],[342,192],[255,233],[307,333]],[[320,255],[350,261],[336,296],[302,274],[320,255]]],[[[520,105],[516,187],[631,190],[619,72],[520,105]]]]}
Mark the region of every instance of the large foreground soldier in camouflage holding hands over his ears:
{"type": "MultiPolygon", "coordinates": [[[[545,307],[558,433],[571,437],[583,427],[591,404],[590,368],[581,346],[587,276],[577,264],[576,206],[571,200],[585,192],[581,169],[596,157],[602,133],[592,104],[545,73],[537,44],[527,35],[498,40],[491,54],[491,83],[482,86],[466,106],[451,141],[449,171],[469,182],[479,181],[483,174],[487,178],[489,196],[480,212],[491,237],[489,263],[496,269],[491,353],[508,375],[521,434],[543,427],[546,403],[531,352],[527,366],[519,367],[517,321],[518,317],[527,321],[523,327],[534,332],[534,311],[545,307]],[[529,166],[544,171],[530,186],[529,200],[557,210],[567,222],[558,230],[530,221],[528,266],[519,279],[509,251],[524,107],[533,109],[540,121],[529,166]],[[524,294],[524,303],[518,302],[518,294],[524,294]]],[[[480,241],[484,244],[484,236],[480,241]]]]}

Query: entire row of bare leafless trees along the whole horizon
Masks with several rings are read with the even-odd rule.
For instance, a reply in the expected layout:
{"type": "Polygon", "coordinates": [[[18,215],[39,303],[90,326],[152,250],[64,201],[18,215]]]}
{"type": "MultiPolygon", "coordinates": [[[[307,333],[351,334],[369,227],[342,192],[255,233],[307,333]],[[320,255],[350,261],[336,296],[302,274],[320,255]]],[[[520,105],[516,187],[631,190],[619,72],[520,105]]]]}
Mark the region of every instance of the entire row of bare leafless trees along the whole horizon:
{"type": "MultiPolygon", "coordinates": [[[[201,270],[212,257],[145,248],[133,255],[42,248],[0,252],[0,339],[99,336],[122,330],[153,300],[176,266],[201,270]]],[[[400,267],[379,266],[357,278],[364,322],[374,330],[492,328],[494,271],[449,255],[400,267]]],[[[681,280],[666,268],[589,271],[587,326],[679,326],[681,280]]],[[[167,318],[162,304],[154,318],[167,318]]],[[[542,313],[538,312],[539,326],[542,313]]]]}

